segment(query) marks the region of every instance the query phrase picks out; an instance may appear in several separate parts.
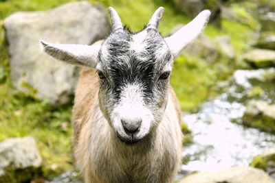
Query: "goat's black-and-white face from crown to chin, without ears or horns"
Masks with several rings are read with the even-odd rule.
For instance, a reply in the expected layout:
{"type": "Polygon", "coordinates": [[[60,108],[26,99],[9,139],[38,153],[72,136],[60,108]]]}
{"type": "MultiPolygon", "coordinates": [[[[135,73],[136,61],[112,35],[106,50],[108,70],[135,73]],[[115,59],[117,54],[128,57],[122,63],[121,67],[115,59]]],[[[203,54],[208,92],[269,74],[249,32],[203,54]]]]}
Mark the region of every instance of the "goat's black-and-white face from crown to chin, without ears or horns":
{"type": "Polygon", "coordinates": [[[113,32],[99,51],[100,108],[121,141],[135,143],[162,119],[173,59],[156,29],[113,32]]]}

